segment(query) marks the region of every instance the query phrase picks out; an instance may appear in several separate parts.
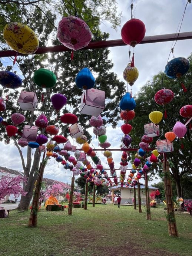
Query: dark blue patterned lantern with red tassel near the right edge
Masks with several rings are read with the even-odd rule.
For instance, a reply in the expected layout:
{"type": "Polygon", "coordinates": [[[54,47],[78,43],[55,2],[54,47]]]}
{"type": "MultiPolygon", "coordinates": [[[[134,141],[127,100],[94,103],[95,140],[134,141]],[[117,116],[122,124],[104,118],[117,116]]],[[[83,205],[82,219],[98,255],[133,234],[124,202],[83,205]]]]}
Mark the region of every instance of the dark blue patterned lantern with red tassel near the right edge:
{"type": "Polygon", "coordinates": [[[189,70],[189,60],[178,57],[170,60],[165,66],[165,75],[169,78],[179,78],[189,70]]]}

